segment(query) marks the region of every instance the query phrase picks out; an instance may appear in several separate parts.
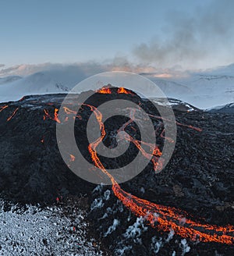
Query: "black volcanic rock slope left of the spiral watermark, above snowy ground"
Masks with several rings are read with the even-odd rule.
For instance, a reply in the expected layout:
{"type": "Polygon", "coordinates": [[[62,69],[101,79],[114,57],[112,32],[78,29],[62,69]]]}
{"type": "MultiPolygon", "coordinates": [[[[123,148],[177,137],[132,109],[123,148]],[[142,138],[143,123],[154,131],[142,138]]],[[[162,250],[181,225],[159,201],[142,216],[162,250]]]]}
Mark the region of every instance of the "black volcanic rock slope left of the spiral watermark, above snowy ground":
{"type": "Polygon", "coordinates": [[[5,198],[47,203],[94,187],[69,170],[58,151],[55,121],[43,119],[44,108],[52,115],[63,98],[59,94],[25,97],[8,103],[0,113],[0,191],[5,198]],[[16,108],[16,115],[7,121],[16,108]]]}

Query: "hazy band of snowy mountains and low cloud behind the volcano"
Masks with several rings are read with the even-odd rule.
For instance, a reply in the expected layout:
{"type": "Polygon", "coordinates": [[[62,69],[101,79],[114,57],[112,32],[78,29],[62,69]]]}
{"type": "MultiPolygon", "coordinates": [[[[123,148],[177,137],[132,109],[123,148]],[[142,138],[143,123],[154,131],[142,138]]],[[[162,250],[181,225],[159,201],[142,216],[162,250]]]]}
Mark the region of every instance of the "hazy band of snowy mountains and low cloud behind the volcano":
{"type": "MultiPolygon", "coordinates": [[[[186,101],[197,108],[213,108],[234,102],[234,64],[200,72],[158,71],[125,66],[157,84],[169,98],[186,101]]],[[[21,65],[0,70],[0,101],[15,101],[28,94],[68,92],[80,81],[97,73],[121,70],[120,67],[89,64],[21,65]]],[[[147,97],[151,91],[145,91],[147,97]]]]}

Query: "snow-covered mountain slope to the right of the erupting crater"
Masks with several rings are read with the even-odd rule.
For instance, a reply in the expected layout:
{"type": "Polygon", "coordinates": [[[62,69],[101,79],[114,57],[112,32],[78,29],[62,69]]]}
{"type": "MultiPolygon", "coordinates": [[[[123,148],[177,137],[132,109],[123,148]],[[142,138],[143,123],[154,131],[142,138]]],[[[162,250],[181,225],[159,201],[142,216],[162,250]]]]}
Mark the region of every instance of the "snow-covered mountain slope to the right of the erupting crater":
{"type": "MultiPolygon", "coordinates": [[[[150,77],[149,77],[150,78],[150,77]]],[[[168,97],[189,102],[197,108],[212,108],[234,102],[234,64],[209,69],[176,80],[155,80],[168,97]]]]}

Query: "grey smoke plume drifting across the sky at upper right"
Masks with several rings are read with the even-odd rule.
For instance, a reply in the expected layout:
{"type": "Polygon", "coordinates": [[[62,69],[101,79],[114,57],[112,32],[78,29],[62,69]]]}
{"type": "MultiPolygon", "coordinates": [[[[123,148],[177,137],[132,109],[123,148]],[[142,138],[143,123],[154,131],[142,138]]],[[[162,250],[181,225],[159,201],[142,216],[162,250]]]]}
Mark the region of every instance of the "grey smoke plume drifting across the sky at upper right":
{"type": "Polygon", "coordinates": [[[193,12],[193,16],[173,12],[165,26],[165,39],[154,37],[148,44],[139,44],[133,54],[141,62],[161,67],[203,67],[234,62],[233,9],[233,1],[214,0],[193,12]]]}

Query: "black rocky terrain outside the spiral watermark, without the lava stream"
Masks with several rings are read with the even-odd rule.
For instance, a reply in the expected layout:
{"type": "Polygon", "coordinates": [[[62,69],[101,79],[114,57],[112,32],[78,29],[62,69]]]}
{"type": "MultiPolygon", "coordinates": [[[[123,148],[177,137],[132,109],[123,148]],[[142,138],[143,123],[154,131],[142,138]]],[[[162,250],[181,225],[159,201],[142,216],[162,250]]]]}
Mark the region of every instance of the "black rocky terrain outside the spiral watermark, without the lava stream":
{"type": "MultiPolygon", "coordinates": [[[[76,198],[87,198],[84,211],[90,223],[88,236],[100,241],[100,250],[106,254],[234,254],[233,245],[191,241],[173,230],[163,233],[153,229],[122,205],[112,187],[97,186],[73,174],[63,162],[56,142],[55,108],[59,108],[64,97],[65,94],[34,95],[0,105],[0,193],[4,201],[21,206],[39,203],[46,208],[69,197],[73,198],[71,205],[76,198]]],[[[106,97],[97,94],[94,101],[99,104],[106,97]]],[[[149,102],[138,96],[122,97],[132,97],[153,112],[149,102]]],[[[156,174],[149,164],[133,180],[123,183],[122,188],[147,201],[181,208],[204,223],[233,225],[233,114],[204,112],[175,102],[172,101],[172,108],[176,120],[201,131],[178,125],[176,149],[166,168],[156,174]]],[[[158,124],[159,120],[155,125],[158,124]]],[[[76,125],[76,137],[82,129],[76,125]]],[[[72,253],[76,254],[76,248],[72,247],[72,253]]]]}

